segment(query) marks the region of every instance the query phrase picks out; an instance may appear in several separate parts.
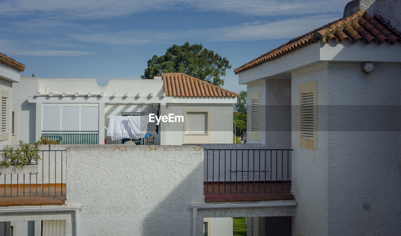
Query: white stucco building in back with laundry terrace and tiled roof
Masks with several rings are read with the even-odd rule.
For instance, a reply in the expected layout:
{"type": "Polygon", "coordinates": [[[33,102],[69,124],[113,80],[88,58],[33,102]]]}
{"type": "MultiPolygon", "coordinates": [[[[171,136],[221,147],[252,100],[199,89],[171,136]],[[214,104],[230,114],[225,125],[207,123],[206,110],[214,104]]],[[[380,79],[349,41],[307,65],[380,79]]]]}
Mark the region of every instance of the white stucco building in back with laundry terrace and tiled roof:
{"type": "MultiPolygon", "coordinates": [[[[233,104],[237,94],[183,73],[154,79],[110,79],[103,87],[95,79],[22,77],[18,139],[41,136],[63,144],[118,144],[130,140],[110,134],[110,116],[181,116],[149,122],[137,144],[231,143],[233,104]],[[115,138],[111,138],[115,137],[115,138]]],[[[128,136],[131,137],[131,136],[128,136]]]]}

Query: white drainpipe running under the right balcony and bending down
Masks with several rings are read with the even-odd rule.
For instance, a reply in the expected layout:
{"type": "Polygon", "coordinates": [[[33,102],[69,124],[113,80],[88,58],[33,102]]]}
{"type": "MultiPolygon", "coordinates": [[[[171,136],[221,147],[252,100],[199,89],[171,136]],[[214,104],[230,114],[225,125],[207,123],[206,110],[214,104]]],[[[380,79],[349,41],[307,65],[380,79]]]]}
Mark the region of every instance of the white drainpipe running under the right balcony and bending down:
{"type": "Polygon", "coordinates": [[[191,204],[192,209],[192,236],[196,236],[196,221],[198,218],[198,209],[216,209],[216,208],[266,208],[266,207],[286,207],[296,206],[296,201],[281,202],[261,202],[261,203],[205,203],[191,204]]]}

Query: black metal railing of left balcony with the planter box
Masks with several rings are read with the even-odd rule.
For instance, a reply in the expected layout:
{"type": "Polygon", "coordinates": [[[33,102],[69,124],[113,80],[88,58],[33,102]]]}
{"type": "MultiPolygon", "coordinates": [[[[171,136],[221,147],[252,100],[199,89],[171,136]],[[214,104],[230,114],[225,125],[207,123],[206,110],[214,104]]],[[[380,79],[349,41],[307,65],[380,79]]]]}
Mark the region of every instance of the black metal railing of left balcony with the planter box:
{"type": "Polygon", "coordinates": [[[49,149],[39,152],[42,160],[38,161],[35,167],[37,168],[36,173],[25,173],[30,171],[30,166],[27,166],[25,171],[14,169],[17,172],[23,172],[14,174],[9,173],[12,170],[8,168],[12,167],[0,168],[0,197],[65,196],[67,185],[66,150],[49,149]]]}

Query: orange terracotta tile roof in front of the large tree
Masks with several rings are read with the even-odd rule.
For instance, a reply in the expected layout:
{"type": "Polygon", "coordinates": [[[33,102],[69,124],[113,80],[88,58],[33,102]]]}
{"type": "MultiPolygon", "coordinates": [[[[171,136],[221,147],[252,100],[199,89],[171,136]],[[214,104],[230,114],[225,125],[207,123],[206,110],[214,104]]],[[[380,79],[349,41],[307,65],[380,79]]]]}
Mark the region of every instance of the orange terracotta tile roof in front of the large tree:
{"type": "Polygon", "coordinates": [[[236,98],[238,94],[184,73],[162,73],[163,90],[168,97],[236,98]]]}

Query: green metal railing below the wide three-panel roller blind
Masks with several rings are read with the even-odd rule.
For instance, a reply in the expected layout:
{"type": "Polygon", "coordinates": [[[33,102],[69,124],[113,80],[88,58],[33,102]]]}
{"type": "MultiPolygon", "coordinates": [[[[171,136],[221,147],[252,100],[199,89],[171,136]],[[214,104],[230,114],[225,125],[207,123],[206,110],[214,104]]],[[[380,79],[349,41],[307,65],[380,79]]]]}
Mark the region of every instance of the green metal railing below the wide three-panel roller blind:
{"type": "Polygon", "coordinates": [[[60,144],[99,144],[99,134],[42,134],[42,138],[59,141],[60,144]]]}

